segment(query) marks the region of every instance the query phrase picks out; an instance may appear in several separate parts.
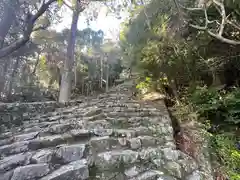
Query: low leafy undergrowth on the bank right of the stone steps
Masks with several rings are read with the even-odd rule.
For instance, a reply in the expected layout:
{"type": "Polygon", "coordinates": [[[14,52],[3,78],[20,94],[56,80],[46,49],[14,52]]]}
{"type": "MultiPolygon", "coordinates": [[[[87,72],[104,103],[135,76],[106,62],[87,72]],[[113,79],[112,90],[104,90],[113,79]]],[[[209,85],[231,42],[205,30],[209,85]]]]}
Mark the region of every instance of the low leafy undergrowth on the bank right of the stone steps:
{"type": "Polygon", "coordinates": [[[230,180],[240,180],[240,89],[197,87],[174,110],[181,123],[203,125],[210,134],[212,158],[230,180]]]}

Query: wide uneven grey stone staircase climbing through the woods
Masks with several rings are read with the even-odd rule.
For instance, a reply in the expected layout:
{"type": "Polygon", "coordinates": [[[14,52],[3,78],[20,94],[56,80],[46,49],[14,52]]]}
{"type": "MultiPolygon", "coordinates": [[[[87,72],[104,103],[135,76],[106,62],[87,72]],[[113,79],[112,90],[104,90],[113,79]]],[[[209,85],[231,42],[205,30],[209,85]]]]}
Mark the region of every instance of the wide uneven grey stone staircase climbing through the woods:
{"type": "Polygon", "coordinates": [[[176,150],[164,102],[133,100],[130,86],[64,106],[1,105],[17,125],[0,135],[0,180],[205,180],[176,150]]]}

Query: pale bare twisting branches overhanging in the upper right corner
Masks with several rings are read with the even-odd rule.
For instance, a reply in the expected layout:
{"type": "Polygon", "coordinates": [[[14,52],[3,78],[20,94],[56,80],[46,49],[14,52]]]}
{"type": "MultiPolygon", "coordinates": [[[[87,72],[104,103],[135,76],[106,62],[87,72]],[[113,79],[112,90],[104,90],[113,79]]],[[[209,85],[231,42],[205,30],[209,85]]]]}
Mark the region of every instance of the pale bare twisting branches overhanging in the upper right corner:
{"type": "Polygon", "coordinates": [[[174,0],[179,13],[187,11],[189,25],[197,30],[207,32],[211,37],[223,43],[239,45],[240,37],[236,31],[240,30],[239,1],[235,0],[198,0],[197,7],[185,7],[174,0]],[[180,9],[181,8],[181,9],[180,9]],[[230,33],[231,31],[231,33],[230,33]],[[233,40],[232,38],[235,38],[233,40]]]}

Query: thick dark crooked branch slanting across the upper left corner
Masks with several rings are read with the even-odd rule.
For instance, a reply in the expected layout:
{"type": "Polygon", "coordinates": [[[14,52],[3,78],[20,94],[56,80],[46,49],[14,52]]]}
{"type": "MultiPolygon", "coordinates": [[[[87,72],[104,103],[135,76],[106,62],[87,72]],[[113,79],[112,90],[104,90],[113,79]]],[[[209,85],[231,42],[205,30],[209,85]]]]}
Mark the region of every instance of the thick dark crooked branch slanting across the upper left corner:
{"type": "Polygon", "coordinates": [[[29,39],[30,39],[30,35],[33,32],[33,28],[34,28],[34,24],[36,22],[36,20],[49,8],[49,6],[55,2],[56,0],[49,0],[47,3],[42,4],[42,6],[39,8],[39,10],[37,11],[36,14],[29,16],[27,24],[26,24],[26,28],[23,32],[23,37],[15,42],[13,42],[12,44],[10,44],[7,47],[4,47],[2,49],[0,49],[0,58],[6,57],[9,54],[11,54],[12,52],[16,51],[17,49],[19,49],[21,46],[25,45],[29,39]]]}

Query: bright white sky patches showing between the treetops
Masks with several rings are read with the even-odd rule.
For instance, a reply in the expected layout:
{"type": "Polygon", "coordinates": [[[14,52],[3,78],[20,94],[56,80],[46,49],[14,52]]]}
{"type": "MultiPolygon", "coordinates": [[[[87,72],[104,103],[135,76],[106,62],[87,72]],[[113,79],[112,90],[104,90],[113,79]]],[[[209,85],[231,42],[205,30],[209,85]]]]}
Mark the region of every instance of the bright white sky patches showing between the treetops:
{"type": "MultiPolygon", "coordinates": [[[[61,14],[63,15],[63,20],[61,23],[57,24],[54,29],[56,31],[61,31],[64,28],[70,28],[71,27],[71,20],[72,20],[72,12],[68,8],[63,8],[61,11],[61,14]]],[[[123,14],[124,16],[125,14],[123,14]]],[[[125,15],[126,16],[126,15],[125,15]]],[[[107,13],[107,7],[106,6],[101,6],[99,8],[99,13],[98,17],[96,20],[90,22],[90,28],[93,30],[102,30],[104,32],[105,38],[106,39],[112,39],[113,41],[118,40],[118,35],[119,35],[119,27],[120,23],[124,20],[122,19],[117,19],[110,13],[107,13]]],[[[79,21],[78,21],[78,29],[84,29],[87,28],[87,23],[86,23],[86,16],[84,15],[84,12],[80,15],[79,21]]]]}

